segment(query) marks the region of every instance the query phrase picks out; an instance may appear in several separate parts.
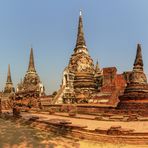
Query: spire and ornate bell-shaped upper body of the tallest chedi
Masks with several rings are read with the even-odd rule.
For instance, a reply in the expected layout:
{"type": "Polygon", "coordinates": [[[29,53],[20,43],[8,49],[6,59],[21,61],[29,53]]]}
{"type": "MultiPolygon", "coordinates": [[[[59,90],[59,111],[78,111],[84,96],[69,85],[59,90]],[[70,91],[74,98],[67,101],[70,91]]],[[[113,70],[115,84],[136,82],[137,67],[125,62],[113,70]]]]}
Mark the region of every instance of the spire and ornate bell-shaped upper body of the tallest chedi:
{"type": "Polygon", "coordinates": [[[93,60],[91,59],[86,47],[82,12],[80,11],[78,33],[74,53],[69,61],[68,69],[73,73],[93,73],[95,72],[93,60]]]}

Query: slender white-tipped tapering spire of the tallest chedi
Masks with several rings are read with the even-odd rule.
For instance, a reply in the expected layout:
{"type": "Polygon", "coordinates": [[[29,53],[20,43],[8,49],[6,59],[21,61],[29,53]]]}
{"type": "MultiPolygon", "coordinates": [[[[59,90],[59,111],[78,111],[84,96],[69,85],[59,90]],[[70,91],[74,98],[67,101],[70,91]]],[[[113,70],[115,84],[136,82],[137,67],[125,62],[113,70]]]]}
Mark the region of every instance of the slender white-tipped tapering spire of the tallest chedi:
{"type": "Polygon", "coordinates": [[[79,15],[78,34],[77,34],[77,41],[76,41],[75,49],[77,49],[79,47],[86,48],[84,32],[83,32],[83,21],[82,21],[82,11],[81,10],[80,10],[80,15],[79,15]]]}

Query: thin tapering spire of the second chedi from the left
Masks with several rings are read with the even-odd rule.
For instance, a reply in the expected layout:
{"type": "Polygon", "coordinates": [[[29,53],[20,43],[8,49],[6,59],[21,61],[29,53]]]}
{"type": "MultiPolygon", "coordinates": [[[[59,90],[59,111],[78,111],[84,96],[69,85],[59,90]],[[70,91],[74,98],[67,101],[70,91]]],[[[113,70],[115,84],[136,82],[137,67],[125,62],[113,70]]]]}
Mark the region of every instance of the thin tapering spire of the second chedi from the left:
{"type": "Polygon", "coordinates": [[[28,72],[36,72],[35,65],[34,65],[33,48],[31,48],[31,51],[30,51],[30,60],[29,60],[28,72]]]}

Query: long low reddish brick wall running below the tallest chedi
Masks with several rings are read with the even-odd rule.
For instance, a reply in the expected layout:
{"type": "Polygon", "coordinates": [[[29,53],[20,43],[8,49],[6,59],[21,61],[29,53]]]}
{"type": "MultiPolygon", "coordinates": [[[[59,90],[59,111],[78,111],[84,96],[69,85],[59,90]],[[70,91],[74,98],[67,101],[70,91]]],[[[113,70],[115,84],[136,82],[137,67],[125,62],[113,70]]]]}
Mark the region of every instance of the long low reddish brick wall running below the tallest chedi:
{"type": "Polygon", "coordinates": [[[71,108],[76,108],[77,113],[79,114],[88,114],[88,115],[132,115],[136,114],[143,117],[148,117],[147,110],[142,110],[138,108],[136,110],[127,110],[127,109],[118,109],[113,106],[100,106],[92,104],[54,104],[54,105],[45,105],[43,106],[44,110],[49,110],[53,108],[56,112],[69,112],[71,108]]]}

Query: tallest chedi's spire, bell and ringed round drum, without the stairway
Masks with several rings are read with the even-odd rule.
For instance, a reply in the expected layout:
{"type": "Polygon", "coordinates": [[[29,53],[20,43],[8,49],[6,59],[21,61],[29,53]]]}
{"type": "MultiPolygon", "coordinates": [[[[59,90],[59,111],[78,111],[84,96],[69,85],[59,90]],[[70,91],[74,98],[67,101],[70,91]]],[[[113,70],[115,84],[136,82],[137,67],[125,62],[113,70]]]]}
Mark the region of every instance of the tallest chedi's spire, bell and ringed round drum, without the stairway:
{"type": "Polygon", "coordinates": [[[97,88],[97,84],[94,78],[94,63],[88,53],[84,38],[81,11],[79,16],[76,46],[69,61],[68,69],[75,75],[73,87],[77,101],[79,102],[84,99],[87,100],[91,93],[97,88]]]}

